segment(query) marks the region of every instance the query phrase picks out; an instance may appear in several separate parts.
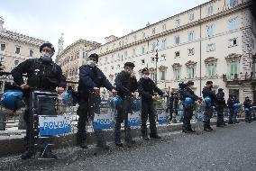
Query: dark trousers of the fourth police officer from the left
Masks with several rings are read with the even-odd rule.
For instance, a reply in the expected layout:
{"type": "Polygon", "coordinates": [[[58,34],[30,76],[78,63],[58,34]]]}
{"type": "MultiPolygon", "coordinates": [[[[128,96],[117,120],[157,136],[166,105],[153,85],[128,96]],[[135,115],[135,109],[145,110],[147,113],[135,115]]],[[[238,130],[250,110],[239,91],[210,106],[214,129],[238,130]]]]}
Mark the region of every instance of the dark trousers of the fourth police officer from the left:
{"type": "Polygon", "coordinates": [[[150,120],[150,129],[151,135],[157,134],[155,112],[152,101],[143,101],[142,100],[142,135],[147,135],[147,121],[150,120]]]}

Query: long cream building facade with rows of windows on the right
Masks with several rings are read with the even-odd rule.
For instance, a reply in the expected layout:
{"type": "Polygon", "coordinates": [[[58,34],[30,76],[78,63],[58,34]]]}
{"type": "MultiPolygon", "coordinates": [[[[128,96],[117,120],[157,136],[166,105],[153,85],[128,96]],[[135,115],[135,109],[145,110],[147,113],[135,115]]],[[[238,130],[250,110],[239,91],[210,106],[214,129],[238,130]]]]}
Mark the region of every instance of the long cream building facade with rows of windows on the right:
{"type": "Polygon", "coordinates": [[[201,95],[212,80],[215,90],[224,88],[226,98],[252,98],[256,29],[250,6],[250,0],[212,0],[121,38],[107,37],[87,55],[100,56],[98,67],[113,83],[130,61],[138,78],[149,67],[161,89],[175,91],[180,82],[191,80],[201,95]]]}

